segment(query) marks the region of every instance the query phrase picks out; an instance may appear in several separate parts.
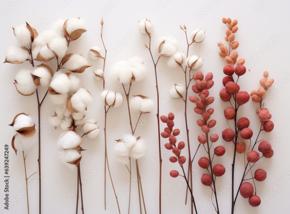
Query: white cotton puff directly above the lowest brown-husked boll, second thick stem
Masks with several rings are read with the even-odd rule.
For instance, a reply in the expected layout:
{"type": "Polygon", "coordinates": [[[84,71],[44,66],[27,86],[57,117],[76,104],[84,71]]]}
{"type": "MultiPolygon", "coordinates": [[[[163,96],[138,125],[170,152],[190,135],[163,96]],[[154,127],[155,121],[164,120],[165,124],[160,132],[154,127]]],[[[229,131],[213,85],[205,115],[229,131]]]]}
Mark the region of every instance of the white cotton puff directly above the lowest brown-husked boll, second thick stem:
{"type": "Polygon", "coordinates": [[[75,131],[68,130],[64,133],[61,133],[57,140],[57,145],[63,149],[73,149],[81,145],[82,139],[75,131]]]}

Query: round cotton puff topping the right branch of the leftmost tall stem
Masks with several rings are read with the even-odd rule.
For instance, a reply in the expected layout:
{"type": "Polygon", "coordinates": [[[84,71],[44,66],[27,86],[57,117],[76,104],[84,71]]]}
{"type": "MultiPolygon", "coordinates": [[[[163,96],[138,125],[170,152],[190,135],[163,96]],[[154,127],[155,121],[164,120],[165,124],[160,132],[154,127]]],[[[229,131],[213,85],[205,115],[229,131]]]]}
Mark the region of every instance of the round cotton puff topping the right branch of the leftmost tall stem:
{"type": "Polygon", "coordinates": [[[55,72],[50,82],[50,86],[60,94],[66,94],[70,90],[70,80],[68,76],[61,72],[55,72]]]}

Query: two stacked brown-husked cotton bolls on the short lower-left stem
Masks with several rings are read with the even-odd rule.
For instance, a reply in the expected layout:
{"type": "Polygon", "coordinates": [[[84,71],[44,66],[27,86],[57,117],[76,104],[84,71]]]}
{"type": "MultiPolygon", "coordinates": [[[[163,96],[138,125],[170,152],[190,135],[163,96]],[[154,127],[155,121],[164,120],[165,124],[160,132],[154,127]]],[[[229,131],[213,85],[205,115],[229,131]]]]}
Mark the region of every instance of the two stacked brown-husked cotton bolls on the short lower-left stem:
{"type": "Polygon", "coordinates": [[[17,132],[12,138],[12,148],[17,154],[17,150],[27,151],[36,142],[35,124],[32,117],[25,113],[16,115],[10,124],[17,132]]]}

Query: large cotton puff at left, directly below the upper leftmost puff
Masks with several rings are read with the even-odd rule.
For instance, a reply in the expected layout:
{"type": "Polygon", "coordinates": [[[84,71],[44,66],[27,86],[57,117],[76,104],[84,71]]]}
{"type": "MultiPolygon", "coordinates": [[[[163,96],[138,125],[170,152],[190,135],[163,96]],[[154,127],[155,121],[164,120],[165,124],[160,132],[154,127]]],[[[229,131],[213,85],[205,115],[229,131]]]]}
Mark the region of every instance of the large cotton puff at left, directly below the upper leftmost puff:
{"type": "Polygon", "coordinates": [[[15,75],[15,86],[22,95],[32,95],[36,91],[36,86],[30,75],[30,70],[21,69],[15,75]]]}

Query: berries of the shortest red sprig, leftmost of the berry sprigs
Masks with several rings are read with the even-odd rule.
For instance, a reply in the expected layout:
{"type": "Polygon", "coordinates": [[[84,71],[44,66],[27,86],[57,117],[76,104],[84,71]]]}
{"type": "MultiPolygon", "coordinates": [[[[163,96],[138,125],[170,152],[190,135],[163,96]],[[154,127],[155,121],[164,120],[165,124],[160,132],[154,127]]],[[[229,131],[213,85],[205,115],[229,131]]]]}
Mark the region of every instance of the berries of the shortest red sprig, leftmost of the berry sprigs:
{"type": "MultiPolygon", "coordinates": [[[[168,116],[166,117],[165,115],[162,115],[160,117],[160,120],[163,123],[166,123],[167,127],[164,128],[164,131],[161,133],[161,137],[163,138],[168,138],[169,143],[164,144],[164,147],[168,150],[171,150],[172,153],[175,156],[169,157],[169,161],[172,163],[175,163],[178,161],[180,165],[184,164],[186,162],[186,157],[180,156],[181,150],[185,147],[185,143],[183,141],[180,141],[177,146],[176,146],[176,136],[180,134],[180,130],[178,128],[175,128],[173,130],[174,126],[174,114],[169,113],[168,116]]],[[[171,177],[177,177],[179,175],[179,172],[176,170],[171,170],[170,171],[170,176],[171,177]]]]}

